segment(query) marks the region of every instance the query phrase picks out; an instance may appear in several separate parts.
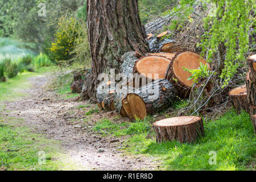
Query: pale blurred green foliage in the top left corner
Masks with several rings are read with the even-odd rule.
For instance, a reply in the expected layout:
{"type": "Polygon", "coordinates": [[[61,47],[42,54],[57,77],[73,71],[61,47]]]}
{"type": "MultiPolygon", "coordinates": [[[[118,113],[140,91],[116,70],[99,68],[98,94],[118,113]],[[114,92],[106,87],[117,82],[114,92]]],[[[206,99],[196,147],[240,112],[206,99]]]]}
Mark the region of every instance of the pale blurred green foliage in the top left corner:
{"type": "Polygon", "coordinates": [[[76,11],[84,0],[0,0],[0,36],[11,36],[42,46],[51,39],[56,25],[48,26],[49,19],[59,18],[61,12],[76,11]],[[39,17],[39,3],[46,3],[46,17],[39,17]]]}

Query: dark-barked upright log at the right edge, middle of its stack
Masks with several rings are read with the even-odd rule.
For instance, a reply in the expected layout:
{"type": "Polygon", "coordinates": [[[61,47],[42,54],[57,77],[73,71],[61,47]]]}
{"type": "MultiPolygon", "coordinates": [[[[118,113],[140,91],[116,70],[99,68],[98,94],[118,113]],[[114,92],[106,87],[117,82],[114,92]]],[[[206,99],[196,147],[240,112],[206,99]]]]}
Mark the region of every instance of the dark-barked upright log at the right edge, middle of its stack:
{"type": "Polygon", "coordinates": [[[256,114],[256,83],[251,81],[251,71],[246,75],[247,103],[250,106],[250,115],[256,114]]]}

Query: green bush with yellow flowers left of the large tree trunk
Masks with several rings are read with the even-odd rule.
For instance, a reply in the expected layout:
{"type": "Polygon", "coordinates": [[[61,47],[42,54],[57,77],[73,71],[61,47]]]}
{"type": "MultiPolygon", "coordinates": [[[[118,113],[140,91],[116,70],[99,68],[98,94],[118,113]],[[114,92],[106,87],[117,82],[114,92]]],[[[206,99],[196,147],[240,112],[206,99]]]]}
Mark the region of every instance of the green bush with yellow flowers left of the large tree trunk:
{"type": "Polygon", "coordinates": [[[79,22],[76,18],[64,15],[59,19],[57,31],[55,34],[55,41],[51,45],[51,53],[53,59],[58,64],[71,64],[75,53],[75,41],[79,36],[77,30],[79,29],[79,22]]]}

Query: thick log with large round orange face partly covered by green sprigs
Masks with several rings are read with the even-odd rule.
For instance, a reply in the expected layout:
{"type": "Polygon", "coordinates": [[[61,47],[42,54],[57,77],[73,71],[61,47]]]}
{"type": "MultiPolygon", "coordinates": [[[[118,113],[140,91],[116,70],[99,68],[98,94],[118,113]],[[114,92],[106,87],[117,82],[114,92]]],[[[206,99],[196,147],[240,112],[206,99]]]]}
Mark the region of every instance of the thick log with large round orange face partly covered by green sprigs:
{"type": "Polygon", "coordinates": [[[200,67],[200,63],[204,65],[207,64],[199,54],[191,51],[177,53],[171,60],[171,63],[167,68],[165,78],[177,87],[180,98],[188,98],[191,86],[194,83],[193,80],[188,80],[192,74],[185,71],[184,68],[198,69],[200,67]]]}

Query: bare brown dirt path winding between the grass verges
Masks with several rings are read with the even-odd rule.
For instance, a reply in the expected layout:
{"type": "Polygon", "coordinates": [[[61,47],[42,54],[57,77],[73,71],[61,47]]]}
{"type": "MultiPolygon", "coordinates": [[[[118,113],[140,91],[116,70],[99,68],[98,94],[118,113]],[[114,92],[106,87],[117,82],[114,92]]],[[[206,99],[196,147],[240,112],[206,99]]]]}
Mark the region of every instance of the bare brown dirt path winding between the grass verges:
{"type": "Polygon", "coordinates": [[[77,106],[88,104],[64,100],[51,90],[43,88],[49,77],[31,77],[33,86],[23,90],[30,96],[23,100],[5,102],[10,117],[23,118],[25,125],[47,138],[60,140],[72,163],[88,170],[154,170],[156,162],[143,156],[122,153],[125,139],[105,138],[93,133],[93,124],[101,118],[114,119],[113,112],[101,112],[84,124],[86,110],[77,106]],[[111,142],[110,142],[111,141],[111,142]]]}

